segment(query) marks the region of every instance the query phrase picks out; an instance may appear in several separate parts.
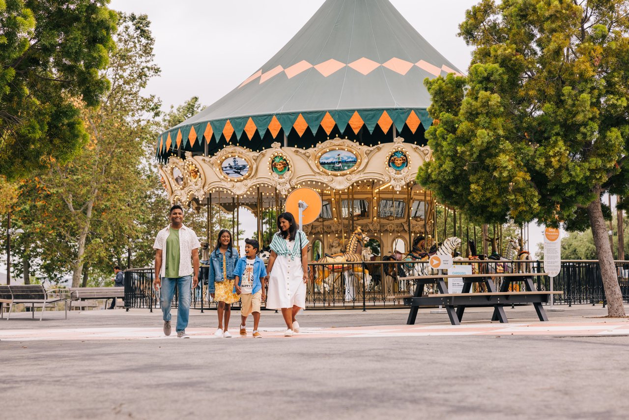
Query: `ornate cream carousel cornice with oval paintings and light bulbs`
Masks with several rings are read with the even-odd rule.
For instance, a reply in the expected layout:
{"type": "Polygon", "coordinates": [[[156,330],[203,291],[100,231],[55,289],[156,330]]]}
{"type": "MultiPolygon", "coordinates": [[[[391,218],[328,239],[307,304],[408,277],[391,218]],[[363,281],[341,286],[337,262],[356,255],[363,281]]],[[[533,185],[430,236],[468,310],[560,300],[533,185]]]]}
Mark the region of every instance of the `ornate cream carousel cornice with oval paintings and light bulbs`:
{"type": "Polygon", "coordinates": [[[242,146],[224,147],[213,156],[170,156],[159,165],[162,183],[171,203],[189,206],[210,193],[243,196],[270,187],[286,195],[299,186],[321,192],[343,191],[362,183],[377,182],[401,191],[413,183],[417,168],[432,156],[430,147],[404,143],[365,146],[348,139],[330,139],[309,149],[281,147],[253,151],[242,146]]]}

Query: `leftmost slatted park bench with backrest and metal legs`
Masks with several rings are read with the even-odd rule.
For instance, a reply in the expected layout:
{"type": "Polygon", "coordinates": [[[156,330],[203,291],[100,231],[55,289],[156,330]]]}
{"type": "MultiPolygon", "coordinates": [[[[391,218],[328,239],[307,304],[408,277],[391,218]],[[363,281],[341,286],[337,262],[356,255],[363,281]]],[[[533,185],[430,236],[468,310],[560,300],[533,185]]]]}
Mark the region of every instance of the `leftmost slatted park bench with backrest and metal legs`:
{"type": "Polygon", "coordinates": [[[62,288],[53,288],[45,290],[42,285],[9,285],[0,286],[0,315],[4,317],[2,307],[4,304],[9,305],[7,321],[11,317],[11,310],[16,304],[31,304],[31,313],[35,319],[35,306],[42,308],[40,321],[43,319],[43,312],[48,305],[55,305],[58,302],[64,302],[65,319],[68,319],[68,290],[62,288]]]}

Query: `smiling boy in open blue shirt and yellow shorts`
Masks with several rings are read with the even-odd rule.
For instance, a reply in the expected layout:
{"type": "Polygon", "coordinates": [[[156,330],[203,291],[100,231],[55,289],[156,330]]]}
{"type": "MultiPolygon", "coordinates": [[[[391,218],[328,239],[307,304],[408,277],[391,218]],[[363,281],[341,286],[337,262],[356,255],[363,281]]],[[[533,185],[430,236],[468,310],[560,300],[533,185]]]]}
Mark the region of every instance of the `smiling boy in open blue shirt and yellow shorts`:
{"type": "Polygon", "coordinates": [[[260,244],[255,239],[245,239],[245,256],[238,259],[233,275],[234,293],[240,295],[242,309],[240,311],[240,335],[246,336],[247,317],[253,314],[253,338],[262,338],[258,332],[260,322],[260,304],[266,298],[263,279],[267,275],[264,261],[257,256],[260,244]]]}

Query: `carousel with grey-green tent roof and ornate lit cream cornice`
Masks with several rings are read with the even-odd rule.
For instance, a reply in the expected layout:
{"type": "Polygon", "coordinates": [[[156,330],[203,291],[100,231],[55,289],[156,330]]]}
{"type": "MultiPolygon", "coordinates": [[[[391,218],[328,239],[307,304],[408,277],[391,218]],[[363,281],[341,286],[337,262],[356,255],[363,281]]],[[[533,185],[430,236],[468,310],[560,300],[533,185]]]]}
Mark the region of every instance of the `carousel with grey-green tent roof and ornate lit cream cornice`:
{"type": "Polygon", "coordinates": [[[435,200],[415,178],[431,159],[423,80],[448,73],[459,71],[389,1],[327,0],[250,77],[158,137],[162,183],[208,220],[238,225],[248,208],[263,246],[287,196],[309,187],[322,204],[303,227],[313,261],[357,230],[371,261],[407,253],[435,239],[435,200]]]}

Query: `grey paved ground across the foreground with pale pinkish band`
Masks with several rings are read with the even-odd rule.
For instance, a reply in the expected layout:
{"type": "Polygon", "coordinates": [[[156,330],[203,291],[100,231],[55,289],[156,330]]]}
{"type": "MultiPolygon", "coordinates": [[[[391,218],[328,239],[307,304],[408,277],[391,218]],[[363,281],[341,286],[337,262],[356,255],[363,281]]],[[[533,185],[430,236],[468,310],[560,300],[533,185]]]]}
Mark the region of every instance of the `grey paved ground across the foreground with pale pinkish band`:
{"type": "Polygon", "coordinates": [[[629,409],[629,322],[596,318],[600,306],[549,312],[547,324],[532,307],[506,309],[508,325],[469,310],[462,327],[428,310],[416,326],[403,325],[406,310],[311,310],[292,338],[264,312],[263,339],[209,339],[216,312],[192,312],[189,340],[162,338],[160,314],[147,312],[0,321],[1,417],[625,419],[629,409]]]}

